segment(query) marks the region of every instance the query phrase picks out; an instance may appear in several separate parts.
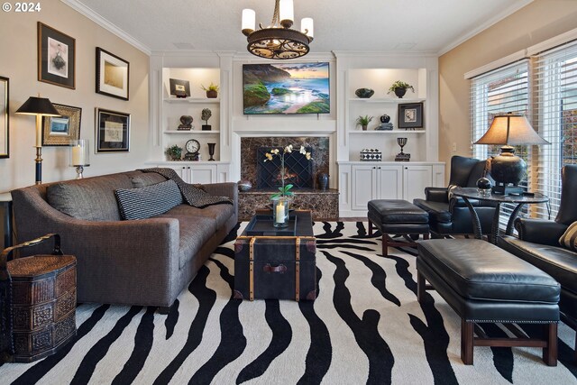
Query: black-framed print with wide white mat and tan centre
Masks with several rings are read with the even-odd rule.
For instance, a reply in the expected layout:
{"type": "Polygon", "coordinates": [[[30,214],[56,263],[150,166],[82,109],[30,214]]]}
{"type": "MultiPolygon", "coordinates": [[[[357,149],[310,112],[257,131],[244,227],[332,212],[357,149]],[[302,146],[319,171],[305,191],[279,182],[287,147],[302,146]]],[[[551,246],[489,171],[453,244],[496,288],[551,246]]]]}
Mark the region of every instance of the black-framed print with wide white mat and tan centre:
{"type": "Polygon", "coordinates": [[[96,47],[96,92],[128,100],[130,63],[96,47]]]}

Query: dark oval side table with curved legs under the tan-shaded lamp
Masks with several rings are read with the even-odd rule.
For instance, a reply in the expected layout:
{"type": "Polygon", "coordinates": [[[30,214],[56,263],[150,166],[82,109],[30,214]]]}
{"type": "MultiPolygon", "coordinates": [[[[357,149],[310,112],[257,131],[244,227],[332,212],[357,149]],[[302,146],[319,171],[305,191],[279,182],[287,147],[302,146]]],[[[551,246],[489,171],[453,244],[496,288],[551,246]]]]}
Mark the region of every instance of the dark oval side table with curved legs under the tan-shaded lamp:
{"type": "Polygon", "coordinates": [[[499,235],[499,215],[500,215],[500,206],[503,203],[513,203],[517,204],[511,212],[511,215],[508,218],[507,228],[505,230],[505,234],[511,235],[513,234],[513,222],[519,213],[519,210],[526,204],[536,204],[536,203],[545,203],[549,201],[549,197],[546,197],[540,193],[532,193],[527,195],[499,195],[499,194],[490,194],[490,196],[481,196],[477,188],[453,188],[451,193],[455,197],[463,197],[465,205],[469,207],[469,211],[471,211],[472,217],[472,228],[475,233],[475,238],[481,239],[481,221],[479,220],[479,215],[475,211],[475,208],[472,206],[471,201],[469,199],[478,199],[478,200],[486,200],[489,202],[497,203],[495,207],[495,215],[493,215],[493,223],[490,229],[490,243],[497,243],[497,236],[499,235]]]}

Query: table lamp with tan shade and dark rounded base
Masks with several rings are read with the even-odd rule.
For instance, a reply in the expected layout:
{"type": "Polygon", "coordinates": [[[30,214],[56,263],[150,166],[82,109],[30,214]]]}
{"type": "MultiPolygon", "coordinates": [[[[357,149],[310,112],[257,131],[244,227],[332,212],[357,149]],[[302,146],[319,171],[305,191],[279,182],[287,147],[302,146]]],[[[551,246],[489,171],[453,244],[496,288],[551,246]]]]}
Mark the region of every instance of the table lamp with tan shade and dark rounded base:
{"type": "Polygon", "coordinates": [[[489,130],[474,144],[503,144],[501,153],[490,160],[490,176],[495,179],[493,194],[520,195],[518,184],[527,174],[527,163],[515,155],[516,145],[549,144],[540,137],[522,114],[495,115],[489,130]]]}

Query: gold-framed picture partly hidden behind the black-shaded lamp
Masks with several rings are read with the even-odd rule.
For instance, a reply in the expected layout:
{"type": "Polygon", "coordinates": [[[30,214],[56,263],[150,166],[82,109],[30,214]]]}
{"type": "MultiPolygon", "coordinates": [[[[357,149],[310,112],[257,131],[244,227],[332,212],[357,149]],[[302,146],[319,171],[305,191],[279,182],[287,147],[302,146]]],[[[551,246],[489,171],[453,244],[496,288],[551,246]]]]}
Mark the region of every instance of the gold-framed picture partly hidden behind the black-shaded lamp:
{"type": "Polygon", "coordinates": [[[60,116],[42,116],[42,146],[69,146],[80,139],[82,108],[53,105],[60,116]]]}

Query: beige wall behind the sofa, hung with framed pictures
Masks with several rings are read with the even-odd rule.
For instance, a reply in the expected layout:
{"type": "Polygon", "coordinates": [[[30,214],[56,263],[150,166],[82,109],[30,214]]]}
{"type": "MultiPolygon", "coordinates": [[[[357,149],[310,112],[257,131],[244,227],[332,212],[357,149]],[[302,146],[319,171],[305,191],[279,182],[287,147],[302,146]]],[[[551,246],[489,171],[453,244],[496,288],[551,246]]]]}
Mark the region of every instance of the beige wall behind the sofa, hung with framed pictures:
{"type": "MultiPolygon", "coordinates": [[[[82,108],[80,138],[93,147],[85,177],[133,170],[148,159],[149,58],[142,51],[96,25],[58,0],[41,2],[41,12],[0,13],[0,75],[10,78],[10,158],[0,159],[0,192],[34,183],[35,118],[14,112],[29,96],[48,97],[52,103],[82,108]],[[76,39],[76,89],[38,81],[37,22],[76,39]],[[130,62],[130,100],[96,94],[96,47],[130,62]],[[95,108],[131,114],[130,152],[94,153],[95,108]]],[[[73,179],[67,147],[42,148],[42,181],[73,179]]]]}

